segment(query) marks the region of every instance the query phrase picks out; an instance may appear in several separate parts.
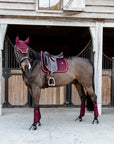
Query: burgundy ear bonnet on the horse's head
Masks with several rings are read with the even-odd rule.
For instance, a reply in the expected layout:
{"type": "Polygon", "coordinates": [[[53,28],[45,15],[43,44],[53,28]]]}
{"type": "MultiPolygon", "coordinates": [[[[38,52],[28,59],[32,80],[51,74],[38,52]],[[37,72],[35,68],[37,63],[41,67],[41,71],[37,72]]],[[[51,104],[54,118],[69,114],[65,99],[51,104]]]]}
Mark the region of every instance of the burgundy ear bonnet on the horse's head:
{"type": "Polygon", "coordinates": [[[29,43],[29,37],[25,41],[20,41],[19,37],[16,37],[16,47],[21,51],[21,53],[27,53],[28,47],[27,44],[29,43]]]}

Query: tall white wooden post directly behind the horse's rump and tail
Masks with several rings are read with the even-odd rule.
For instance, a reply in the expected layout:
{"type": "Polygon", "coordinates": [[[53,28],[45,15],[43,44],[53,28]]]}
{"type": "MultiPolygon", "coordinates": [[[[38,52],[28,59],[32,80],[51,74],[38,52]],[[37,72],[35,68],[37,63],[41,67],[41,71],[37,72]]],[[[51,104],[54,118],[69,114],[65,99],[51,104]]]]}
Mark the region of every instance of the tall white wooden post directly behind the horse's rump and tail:
{"type": "Polygon", "coordinates": [[[95,27],[90,27],[94,52],[94,82],[97,95],[98,111],[101,114],[102,106],[102,44],[103,44],[103,23],[96,22],[95,27]]]}

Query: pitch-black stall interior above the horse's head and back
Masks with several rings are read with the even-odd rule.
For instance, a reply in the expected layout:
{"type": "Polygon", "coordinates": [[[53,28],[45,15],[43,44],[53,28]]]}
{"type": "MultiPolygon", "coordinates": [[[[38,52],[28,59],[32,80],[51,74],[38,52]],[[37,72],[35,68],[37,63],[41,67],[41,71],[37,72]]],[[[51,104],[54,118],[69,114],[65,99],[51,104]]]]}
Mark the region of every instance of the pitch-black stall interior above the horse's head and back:
{"type": "Polygon", "coordinates": [[[52,54],[63,51],[65,57],[77,55],[91,39],[87,27],[9,25],[7,35],[14,44],[17,35],[22,40],[29,36],[31,48],[52,54]]]}

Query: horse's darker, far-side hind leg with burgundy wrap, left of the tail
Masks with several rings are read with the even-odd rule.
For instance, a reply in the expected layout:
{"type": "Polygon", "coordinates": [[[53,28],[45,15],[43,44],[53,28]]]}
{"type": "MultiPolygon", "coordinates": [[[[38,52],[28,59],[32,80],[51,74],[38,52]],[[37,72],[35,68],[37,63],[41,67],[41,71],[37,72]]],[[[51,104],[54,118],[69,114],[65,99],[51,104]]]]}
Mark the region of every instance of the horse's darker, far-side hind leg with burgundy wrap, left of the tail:
{"type": "Polygon", "coordinates": [[[81,99],[80,115],[78,116],[78,118],[76,120],[82,121],[82,117],[85,115],[86,95],[85,95],[83,87],[79,83],[76,83],[75,86],[78,90],[78,93],[79,93],[79,96],[81,99]]]}

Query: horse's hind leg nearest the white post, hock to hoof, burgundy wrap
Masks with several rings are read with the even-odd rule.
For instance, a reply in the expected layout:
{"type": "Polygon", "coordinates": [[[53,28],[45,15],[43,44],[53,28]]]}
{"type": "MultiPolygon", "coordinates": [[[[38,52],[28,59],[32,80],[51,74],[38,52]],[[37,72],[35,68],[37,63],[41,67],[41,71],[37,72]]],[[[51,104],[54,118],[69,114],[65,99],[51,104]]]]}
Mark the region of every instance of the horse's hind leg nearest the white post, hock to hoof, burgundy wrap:
{"type": "Polygon", "coordinates": [[[86,87],[86,90],[89,94],[89,96],[91,97],[92,101],[93,101],[93,108],[94,108],[94,120],[93,120],[93,124],[96,121],[97,123],[99,123],[98,121],[98,108],[97,108],[97,96],[93,90],[93,87],[86,87]]]}

